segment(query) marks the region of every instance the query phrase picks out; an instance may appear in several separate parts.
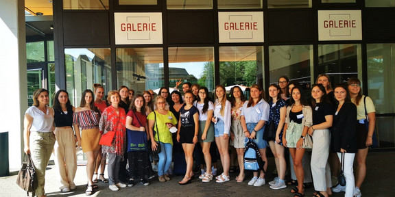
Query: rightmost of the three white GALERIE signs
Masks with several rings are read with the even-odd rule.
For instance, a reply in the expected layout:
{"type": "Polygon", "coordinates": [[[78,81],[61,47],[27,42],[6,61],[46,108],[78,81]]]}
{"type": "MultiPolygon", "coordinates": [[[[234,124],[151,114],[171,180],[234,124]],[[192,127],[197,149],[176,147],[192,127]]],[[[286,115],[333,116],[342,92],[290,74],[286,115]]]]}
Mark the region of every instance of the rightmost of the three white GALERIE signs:
{"type": "Polygon", "coordinates": [[[362,40],[361,10],[318,10],[318,40],[362,40]]]}

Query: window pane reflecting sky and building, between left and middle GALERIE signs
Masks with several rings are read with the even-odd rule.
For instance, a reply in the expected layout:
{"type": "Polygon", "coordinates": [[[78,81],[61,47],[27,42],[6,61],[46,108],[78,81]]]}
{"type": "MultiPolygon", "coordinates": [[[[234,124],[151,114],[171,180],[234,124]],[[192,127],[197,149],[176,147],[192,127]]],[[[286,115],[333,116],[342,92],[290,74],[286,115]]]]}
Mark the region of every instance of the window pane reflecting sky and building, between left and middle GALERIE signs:
{"type": "MultiPolygon", "coordinates": [[[[177,81],[198,83],[212,92],[214,80],[213,47],[171,47],[169,48],[169,87],[177,81]]],[[[178,87],[180,91],[182,87],[178,87]]]]}

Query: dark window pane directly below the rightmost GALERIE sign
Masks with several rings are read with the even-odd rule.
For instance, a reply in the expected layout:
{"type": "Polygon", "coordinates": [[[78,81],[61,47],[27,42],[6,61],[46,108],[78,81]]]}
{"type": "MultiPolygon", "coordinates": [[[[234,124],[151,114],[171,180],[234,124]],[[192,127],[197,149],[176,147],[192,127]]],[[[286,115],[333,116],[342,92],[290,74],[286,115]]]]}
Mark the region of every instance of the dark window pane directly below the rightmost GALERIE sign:
{"type": "Polygon", "coordinates": [[[318,57],[315,69],[331,77],[333,85],[346,83],[351,77],[362,79],[361,44],[320,44],[318,57]]]}

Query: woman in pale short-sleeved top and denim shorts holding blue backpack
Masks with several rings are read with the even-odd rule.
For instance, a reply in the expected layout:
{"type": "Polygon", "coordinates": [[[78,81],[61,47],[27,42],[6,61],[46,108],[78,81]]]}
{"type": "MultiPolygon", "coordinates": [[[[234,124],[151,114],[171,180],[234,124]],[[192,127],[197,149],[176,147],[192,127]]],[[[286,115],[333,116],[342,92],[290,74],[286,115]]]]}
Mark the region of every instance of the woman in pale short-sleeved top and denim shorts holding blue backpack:
{"type": "MultiPolygon", "coordinates": [[[[256,84],[250,88],[250,100],[244,103],[241,109],[241,127],[246,137],[250,138],[252,142],[259,148],[262,161],[265,162],[263,169],[266,171],[267,158],[266,158],[266,147],[267,142],[263,140],[263,131],[265,129],[265,122],[269,120],[269,104],[263,100],[264,92],[262,88],[256,84]]],[[[254,172],[254,177],[248,182],[248,185],[254,185],[256,187],[265,185],[265,173],[263,170],[254,172]]]]}

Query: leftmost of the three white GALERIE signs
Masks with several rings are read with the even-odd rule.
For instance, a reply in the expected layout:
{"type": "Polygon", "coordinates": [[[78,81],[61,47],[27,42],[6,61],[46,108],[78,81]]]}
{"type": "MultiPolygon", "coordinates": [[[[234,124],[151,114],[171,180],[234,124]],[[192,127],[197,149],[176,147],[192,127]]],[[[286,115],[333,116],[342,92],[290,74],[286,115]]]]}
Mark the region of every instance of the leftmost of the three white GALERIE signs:
{"type": "Polygon", "coordinates": [[[162,44],[162,13],[114,14],[115,44],[162,44]]]}

